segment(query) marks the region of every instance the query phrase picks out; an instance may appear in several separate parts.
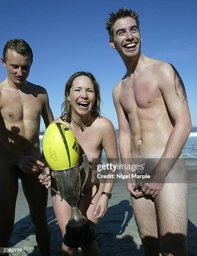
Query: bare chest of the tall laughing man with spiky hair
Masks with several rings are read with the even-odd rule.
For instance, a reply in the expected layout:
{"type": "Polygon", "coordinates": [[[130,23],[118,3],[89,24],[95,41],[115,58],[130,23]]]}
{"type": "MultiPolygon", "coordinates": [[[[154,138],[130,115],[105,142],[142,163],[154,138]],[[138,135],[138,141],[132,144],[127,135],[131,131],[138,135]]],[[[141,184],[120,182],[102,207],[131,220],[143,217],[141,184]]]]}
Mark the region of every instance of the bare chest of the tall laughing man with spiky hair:
{"type": "Polygon", "coordinates": [[[136,108],[151,108],[161,99],[161,92],[154,80],[134,79],[123,82],[120,103],[127,113],[136,108]]]}

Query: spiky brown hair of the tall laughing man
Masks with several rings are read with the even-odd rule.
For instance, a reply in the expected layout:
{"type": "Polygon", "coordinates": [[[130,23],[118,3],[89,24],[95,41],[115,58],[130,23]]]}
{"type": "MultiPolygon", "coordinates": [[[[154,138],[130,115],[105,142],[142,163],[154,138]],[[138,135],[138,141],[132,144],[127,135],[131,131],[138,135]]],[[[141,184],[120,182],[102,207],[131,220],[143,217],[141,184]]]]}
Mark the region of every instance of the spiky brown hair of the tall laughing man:
{"type": "Polygon", "coordinates": [[[113,25],[114,23],[117,21],[117,20],[120,20],[121,18],[126,18],[126,17],[131,17],[133,18],[134,20],[136,20],[136,23],[137,23],[137,26],[138,26],[138,29],[139,29],[139,15],[138,13],[135,11],[135,10],[132,10],[132,9],[127,9],[125,6],[123,6],[122,8],[120,8],[117,11],[114,12],[111,12],[110,13],[110,18],[107,18],[107,22],[105,23],[106,25],[106,29],[109,33],[109,37],[110,37],[110,40],[113,41],[113,25]]]}

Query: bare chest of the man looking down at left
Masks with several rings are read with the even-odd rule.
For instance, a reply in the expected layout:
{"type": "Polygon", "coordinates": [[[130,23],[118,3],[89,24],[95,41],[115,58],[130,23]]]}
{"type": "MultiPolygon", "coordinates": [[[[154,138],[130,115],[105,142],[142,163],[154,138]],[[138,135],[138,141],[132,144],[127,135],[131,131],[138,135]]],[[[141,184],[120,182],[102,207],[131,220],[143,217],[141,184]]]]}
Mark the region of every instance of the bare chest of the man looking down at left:
{"type": "Polygon", "coordinates": [[[28,94],[8,94],[1,97],[1,115],[6,121],[20,121],[23,119],[38,119],[42,111],[42,101],[38,97],[28,94]]]}

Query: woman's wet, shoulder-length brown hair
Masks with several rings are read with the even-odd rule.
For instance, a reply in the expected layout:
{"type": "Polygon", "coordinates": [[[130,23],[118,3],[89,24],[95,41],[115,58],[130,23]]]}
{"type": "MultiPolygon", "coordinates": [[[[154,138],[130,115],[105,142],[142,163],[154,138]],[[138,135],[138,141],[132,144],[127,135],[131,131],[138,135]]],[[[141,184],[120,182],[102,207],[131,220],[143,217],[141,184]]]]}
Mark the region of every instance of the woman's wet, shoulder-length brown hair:
{"type": "Polygon", "coordinates": [[[71,123],[71,106],[68,100],[68,95],[70,94],[70,88],[72,87],[72,83],[76,77],[85,76],[89,77],[91,82],[94,84],[95,88],[95,104],[92,107],[92,114],[95,116],[100,116],[100,86],[97,83],[95,77],[89,72],[76,72],[74,73],[67,81],[65,85],[65,93],[64,93],[64,102],[61,104],[61,118],[67,121],[67,123],[71,123]]]}

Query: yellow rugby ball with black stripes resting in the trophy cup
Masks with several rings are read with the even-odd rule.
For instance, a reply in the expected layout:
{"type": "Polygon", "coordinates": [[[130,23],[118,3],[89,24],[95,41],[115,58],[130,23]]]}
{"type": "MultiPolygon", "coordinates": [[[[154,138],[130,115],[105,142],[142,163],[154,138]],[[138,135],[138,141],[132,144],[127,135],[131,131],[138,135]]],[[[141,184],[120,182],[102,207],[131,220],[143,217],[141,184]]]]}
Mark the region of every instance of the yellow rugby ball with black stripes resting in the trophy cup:
{"type": "Polygon", "coordinates": [[[47,127],[42,148],[53,170],[64,170],[78,164],[79,144],[71,129],[62,123],[51,123],[47,127]]]}

